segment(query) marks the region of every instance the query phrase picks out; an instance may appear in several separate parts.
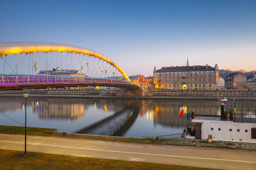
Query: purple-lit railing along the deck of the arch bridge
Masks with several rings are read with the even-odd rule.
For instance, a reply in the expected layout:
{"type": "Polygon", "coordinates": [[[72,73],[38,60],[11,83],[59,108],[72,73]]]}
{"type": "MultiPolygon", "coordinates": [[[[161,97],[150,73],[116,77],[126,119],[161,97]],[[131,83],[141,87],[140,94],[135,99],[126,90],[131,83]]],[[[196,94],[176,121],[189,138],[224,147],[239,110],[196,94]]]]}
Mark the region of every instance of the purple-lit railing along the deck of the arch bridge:
{"type": "MultiPolygon", "coordinates": [[[[0,75],[0,87],[12,84],[133,84],[127,80],[54,75],[0,75]]],[[[137,85],[138,86],[138,85],[137,85]]]]}

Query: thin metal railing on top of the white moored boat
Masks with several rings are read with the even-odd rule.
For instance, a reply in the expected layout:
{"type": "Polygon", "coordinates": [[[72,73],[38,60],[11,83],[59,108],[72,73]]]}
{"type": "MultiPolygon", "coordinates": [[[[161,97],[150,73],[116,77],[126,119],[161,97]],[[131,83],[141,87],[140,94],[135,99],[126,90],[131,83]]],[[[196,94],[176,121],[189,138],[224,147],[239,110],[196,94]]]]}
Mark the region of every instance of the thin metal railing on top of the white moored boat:
{"type": "Polygon", "coordinates": [[[256,110],[229,109],[229,112],[230,121],[256,123],[256,110]]]}

